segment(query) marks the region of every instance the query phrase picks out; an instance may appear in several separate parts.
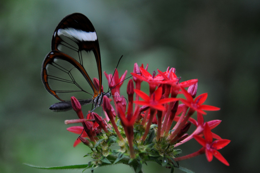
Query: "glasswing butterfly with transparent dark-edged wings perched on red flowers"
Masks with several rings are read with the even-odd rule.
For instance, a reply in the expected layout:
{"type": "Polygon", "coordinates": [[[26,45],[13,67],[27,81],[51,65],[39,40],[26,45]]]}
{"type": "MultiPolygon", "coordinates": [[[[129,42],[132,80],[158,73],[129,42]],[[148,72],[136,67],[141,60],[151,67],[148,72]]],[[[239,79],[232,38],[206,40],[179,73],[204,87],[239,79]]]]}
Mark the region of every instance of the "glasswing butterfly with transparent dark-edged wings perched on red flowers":
{"type": "Polygon", "coordinates": [[[50,106],[52,111],[72,109],[71,96],[81,105],[93,103],[94,109],[101,106],[103,96],[111,96],[101,89],[98,37],[85,15],[73,13],[60,21],[52,36],[51,51],[43,60],[41,76],[46,90],[60,100],[50,106]],[[99,85],[94,85],[94,78],[99,85]]]}

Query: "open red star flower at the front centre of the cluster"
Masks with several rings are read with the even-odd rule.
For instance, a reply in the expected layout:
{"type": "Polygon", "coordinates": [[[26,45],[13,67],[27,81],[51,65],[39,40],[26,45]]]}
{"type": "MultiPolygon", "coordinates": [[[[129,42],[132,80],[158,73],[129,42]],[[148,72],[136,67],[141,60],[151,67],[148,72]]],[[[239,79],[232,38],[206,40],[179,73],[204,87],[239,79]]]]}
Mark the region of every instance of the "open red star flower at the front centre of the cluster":
{"type": "Polygon", "coordinates": [[[162,99],[162,87],[159,87],[157,90],[154,91],[151,96],[148,96],[146,93],[139,89],[134,90],[136,94],[138,94],[144,101],[134,101],[136,104],[140,105],[146,105],[149,106],[150,108],[159,110],[159,111],[164,111],[166,108],[164,107],[164,103],[169,103],[176,101],[178,99],[176,98],[164,98],[162,99]]]}

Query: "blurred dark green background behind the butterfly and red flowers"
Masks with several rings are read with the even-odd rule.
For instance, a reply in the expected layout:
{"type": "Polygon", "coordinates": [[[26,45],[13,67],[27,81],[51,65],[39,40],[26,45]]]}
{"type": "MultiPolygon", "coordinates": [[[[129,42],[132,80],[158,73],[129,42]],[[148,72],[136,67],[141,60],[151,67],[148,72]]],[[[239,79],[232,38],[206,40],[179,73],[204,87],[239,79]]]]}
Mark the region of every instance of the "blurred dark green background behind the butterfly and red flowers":
{"type": "MultiPolygon", "coordinates": [[[[83,158],[87,147],[73,148],[77,136],[63,123],[76,114],[48,110],[57,100],[46,92],[40,76],[56,25],[75,12],[95,26],[103,71],[112,73],[121,55],[119,73],[131,72],[134,62],[149,63],[150,73],[175,67],[182,81],[199,79],[198,94],[208,92],[206,104],[221,107],[208,112],[205,121],[222,120],[213,132],[231,140],[220,150],[230,166],[216,158],[208,163],[205,155],[181,166],[195,172],[259,171],[260,1],[1,0],[0,172],[57,172],[23,163],[63,166],[89,161],[83,158]]],[[[106,90],[105,79],[103,86],[106,90]]],[[[188,154],[200,145],[191,142],[180,148],[188,154]]],[[[122,171],[132,172],[124,165],[95,170],[122,171]]],[[[144,172],[170,170],[149,163],[144,172]]]]}

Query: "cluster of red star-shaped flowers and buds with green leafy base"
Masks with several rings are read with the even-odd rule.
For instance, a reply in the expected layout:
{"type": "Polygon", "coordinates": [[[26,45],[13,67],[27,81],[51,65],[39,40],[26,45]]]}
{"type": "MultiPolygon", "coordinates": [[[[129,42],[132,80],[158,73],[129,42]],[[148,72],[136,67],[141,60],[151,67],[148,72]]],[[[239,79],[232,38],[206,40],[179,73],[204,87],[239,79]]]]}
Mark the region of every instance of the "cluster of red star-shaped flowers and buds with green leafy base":
{"type": "Polygon", "coordinates": [[[203,153],[209,162],[215,156],[228,166],[227,160],[217,150],[228,145],[230,140],[211,132],[221,120],[204,122],[203,119],[205,111],[217,111],[220,108],[203,104],[207,93],[196,97],[198,80],[180,82],[174,68],[168,67],[165,72],[158,70],[156,75],[155,71],[153,74],[147,72],[147,67],[134,65],[131,73],[133,79],[127,85],[127,100],[120,95],[127,71],[120,78],[117,70],[113,77],[105,73],[114,103],[111,104],[110,98],[103,97],[104,119],[94,112],[84,118],[80,103],[75,97],[71,98],[79,119],[66,120],[65,123],[82,123],[82,126],[72,126],[67,130],[80,135],[73,146],[83,142],[91,148],[92,152],[87,156],[93,160],[88,167],[94,169],[123,163],[140,172],[143,163],[155,161],[173,170],[173,167],[178,167],[178,161],[203,153]],[[143,81],[149,84],[149,93],[141,91],[143,81]],[[194,113],[197,114],[197,120],[191,118],[194,113]],[[191,124],[196,128],[188,133],[191,124]],[[179,156],[179,146],[193,138],[202,148],[189,155],[179,156]],[[213,138],[216,140],[213,141],[213,138]]]}

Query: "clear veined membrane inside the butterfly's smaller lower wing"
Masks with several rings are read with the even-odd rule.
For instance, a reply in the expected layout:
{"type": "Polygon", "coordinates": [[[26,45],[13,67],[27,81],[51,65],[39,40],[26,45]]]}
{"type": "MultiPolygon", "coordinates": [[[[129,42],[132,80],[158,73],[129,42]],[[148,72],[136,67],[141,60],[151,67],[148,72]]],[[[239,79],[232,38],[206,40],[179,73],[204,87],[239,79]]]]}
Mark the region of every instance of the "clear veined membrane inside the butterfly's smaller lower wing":
{"type": "Polygon", "coordinates": [[[47,83],[61,100],[93,98],[93,90],[82,72],[70,62],[54,58],[46,65],[47,83]]]}

